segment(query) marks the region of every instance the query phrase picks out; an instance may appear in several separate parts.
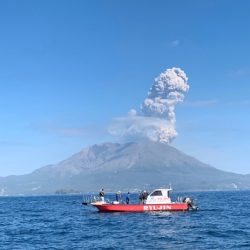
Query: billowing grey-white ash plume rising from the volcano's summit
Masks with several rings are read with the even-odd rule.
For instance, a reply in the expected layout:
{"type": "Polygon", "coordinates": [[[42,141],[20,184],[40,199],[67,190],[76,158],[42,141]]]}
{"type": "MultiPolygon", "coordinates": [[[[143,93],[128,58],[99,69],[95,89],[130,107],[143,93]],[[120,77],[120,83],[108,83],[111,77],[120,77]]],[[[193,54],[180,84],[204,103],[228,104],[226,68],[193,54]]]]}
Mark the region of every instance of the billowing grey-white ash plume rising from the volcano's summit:
{"type": "Polygon", "coordinates": [[[180,68],[171,68],[155,78],[141,110],[132,109],[127,117],[114,119],[109,132],[129,140],[150,139],[170,143],[176,136],[175,105],[183,102],[188,78],[180,68]]]}

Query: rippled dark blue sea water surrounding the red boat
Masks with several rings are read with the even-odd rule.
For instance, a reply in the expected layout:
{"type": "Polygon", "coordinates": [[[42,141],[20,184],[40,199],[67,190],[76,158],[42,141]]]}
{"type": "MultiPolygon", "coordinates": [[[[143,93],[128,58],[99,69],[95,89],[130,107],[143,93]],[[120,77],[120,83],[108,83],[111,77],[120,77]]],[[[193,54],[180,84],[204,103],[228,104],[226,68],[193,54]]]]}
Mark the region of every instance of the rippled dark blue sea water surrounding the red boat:
{"type": "Polygon", "coordinates": [[[99,213],[81,195],[1,197],[0,249],[250,249],[250,191],[188,196],[199,211],[99,213]]]}

